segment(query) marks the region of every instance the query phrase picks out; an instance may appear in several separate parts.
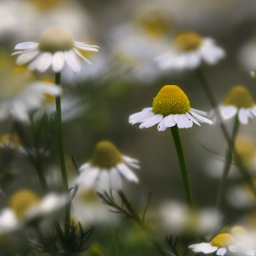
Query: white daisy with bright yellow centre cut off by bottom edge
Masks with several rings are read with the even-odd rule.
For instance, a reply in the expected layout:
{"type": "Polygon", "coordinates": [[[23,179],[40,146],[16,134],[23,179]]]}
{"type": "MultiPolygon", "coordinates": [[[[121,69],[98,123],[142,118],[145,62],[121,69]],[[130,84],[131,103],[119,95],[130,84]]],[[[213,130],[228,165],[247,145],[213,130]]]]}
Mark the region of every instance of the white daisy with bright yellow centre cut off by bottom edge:
{"type": "Polygon", "coordinates": [[[221,233],[210,242],[192,244],[188,248],[195,252],[203,252],[205,254],[217,251],[216,254],[219,256],[225,255],[228,249],[234,253],[243,252],[249,256],[255,255],[255,251],[243,248],[229,233],[221,233]]]}

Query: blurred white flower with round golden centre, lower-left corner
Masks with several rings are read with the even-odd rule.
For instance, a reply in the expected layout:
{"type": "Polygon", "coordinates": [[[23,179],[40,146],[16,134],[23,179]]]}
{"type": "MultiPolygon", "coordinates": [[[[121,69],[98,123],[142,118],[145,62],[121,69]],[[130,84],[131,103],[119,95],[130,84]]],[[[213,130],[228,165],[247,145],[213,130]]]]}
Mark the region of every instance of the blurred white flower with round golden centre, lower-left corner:
{"type": "Polygon", "coordinates": [[[67,195],[48,193],[45,197],[37,196],[29,189],[16,191],[9,198],[9,207],[0,213],[0,234],[22,229],[32,221],[51,216],[68,202],[67,195]]]}

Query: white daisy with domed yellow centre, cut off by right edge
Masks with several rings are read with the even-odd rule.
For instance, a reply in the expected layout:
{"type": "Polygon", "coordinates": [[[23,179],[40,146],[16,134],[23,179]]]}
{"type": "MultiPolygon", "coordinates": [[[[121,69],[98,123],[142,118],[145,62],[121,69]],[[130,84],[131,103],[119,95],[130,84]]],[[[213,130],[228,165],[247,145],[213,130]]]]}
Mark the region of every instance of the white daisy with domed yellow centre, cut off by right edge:
{"type": "Polygon", "coordinates": [[[247,124],[249,118],[256,119],[256,105],[251,93],[242,85],[234,86],[226,99],[219,106],[219,113],[223,120],[229,120],[238,115],[242,124],[247,124]]]}

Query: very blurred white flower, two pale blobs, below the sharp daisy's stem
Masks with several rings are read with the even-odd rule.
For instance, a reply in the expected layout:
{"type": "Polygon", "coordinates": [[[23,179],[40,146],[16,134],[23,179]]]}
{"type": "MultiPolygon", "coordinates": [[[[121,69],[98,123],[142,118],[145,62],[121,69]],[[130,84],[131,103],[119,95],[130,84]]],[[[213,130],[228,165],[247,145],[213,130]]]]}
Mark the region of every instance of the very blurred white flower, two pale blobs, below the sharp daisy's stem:
{"type": "Polygon", "coordinates": [[[219,228],[221,216],[213,208],[197,209],[194,212],[187,205],[177,201],[165,201],[159,207],[163,227],[173,235],[206,236],[219,228]]]}

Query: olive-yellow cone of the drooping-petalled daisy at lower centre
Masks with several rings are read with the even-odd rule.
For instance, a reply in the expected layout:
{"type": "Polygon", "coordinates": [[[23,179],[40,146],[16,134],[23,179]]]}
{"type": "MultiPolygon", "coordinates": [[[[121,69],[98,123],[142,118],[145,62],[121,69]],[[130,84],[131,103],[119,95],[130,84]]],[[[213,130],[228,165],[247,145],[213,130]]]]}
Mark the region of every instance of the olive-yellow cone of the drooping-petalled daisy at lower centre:
{"type": "Polygon", "coordinates": [[[108,141],[102,141],[96,145],[91,157],[91,165],[101,168],[110,168],[123,162],[123,156],[114,144],[108,141]]]}

